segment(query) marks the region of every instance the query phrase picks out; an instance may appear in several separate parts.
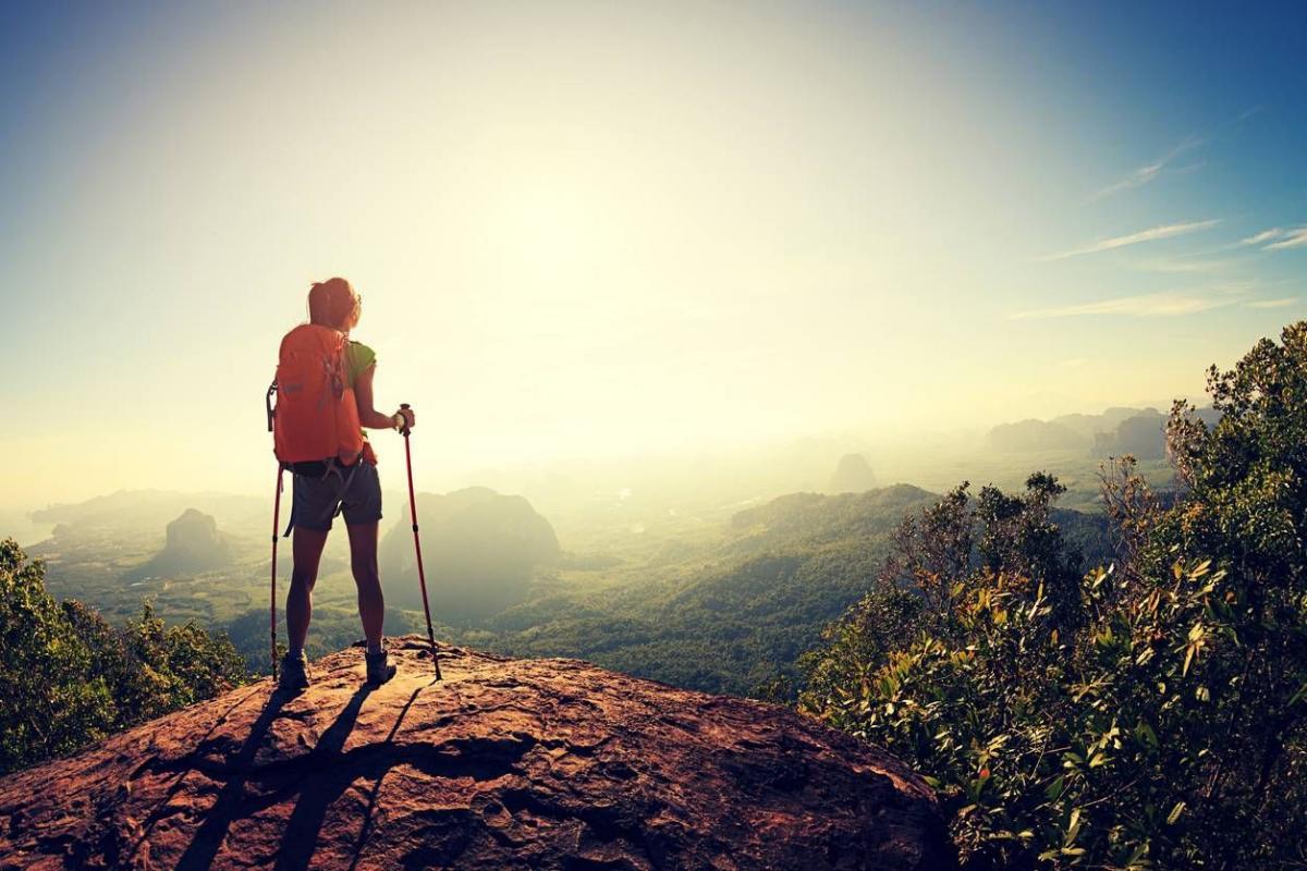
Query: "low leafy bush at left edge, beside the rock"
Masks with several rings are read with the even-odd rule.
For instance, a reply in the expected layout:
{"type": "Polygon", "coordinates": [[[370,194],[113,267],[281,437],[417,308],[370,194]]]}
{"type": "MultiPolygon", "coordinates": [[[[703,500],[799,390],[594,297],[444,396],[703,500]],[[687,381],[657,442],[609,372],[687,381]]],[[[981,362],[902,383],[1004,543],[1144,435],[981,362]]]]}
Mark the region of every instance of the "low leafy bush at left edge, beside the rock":
{"type": "Polygon", "coordinates": [[[244,683],[225,636],[165,627],[150,605],[125,628],[59,603],[41,562],[0,542],[0,774],[244,683]]]}

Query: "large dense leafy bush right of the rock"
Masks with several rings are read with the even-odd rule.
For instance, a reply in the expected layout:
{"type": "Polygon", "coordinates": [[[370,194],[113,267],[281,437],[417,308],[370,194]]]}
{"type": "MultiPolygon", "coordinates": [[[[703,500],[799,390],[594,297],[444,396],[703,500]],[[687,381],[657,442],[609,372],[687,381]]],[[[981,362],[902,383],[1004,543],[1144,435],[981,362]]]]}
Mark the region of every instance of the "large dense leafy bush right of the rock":
{"type": "Polygon", "coordinates": [[[904,522],[801,709],[914,764],[970,868],[1307,867],[1307,324],[1178,404],[1170,508],[1103,475],[1077,578],[1056,482],[904,522]]]}

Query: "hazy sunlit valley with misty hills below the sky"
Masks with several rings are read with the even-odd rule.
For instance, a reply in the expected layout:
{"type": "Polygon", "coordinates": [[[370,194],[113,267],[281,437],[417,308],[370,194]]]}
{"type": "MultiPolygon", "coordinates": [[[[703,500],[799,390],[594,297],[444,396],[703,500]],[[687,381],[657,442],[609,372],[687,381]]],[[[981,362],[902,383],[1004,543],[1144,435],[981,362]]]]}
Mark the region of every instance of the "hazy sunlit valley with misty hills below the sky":
{"type": "MultiPolygon", "coordinates": [[[[732,452],[482,470],[443,496],[420,498],[435,619],[448,637],[485,649],[586,657],[749,692],[865,593],[904,515],[963,481],[1019,490],[1031,470],[1057,475],[1067,487],[1064,524],[1080,529],[1090,554],[1104,554],[1100,464],[1131,453],[1165,490],[1172,473],[1163,422],[1155,407],[1114,406],[987,431],[809,436],[732,452]],[[843,548],[850,562],[813,575],[804,562],[813,542],[843,548]],[[754,616],[723,646],[720,620],[708,618],[711,602],[727,601],[748,602],[754,616]],[[670,645],[678,645],[674,656],[670,645]]],[[[392,632],[416,629],[408,505],[399,491],[384,500],[388,619],[392,632]]],[[[148,599],[169,622],[225,629],[251,667],[260,666],[267,496],[124,490],[7,522],[7,534],[46,560],[55,595],[115,620],[133,618],[148,599]]],[[[282,563],[282,582],[289,571],[282,563]]],[[[311,644],[328,652],[358,632],[342,535],[328,539],[322,576],[322,632],[311,644]]]]}

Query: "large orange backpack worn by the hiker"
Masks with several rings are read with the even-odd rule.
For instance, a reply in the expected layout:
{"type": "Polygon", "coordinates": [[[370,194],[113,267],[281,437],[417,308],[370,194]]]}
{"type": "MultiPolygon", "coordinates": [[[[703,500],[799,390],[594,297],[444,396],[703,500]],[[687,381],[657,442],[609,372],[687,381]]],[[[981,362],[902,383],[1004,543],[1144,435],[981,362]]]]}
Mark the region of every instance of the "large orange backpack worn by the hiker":
{"type": "Polygon", "coordinates": [[[346,345],[342,333],[316,324],[301,324],[281,340],[277,377],[268,388],[268,428],[281,462],[336,457],[349,465],[359,458],[363,430],[349,384],[346,345]]]}

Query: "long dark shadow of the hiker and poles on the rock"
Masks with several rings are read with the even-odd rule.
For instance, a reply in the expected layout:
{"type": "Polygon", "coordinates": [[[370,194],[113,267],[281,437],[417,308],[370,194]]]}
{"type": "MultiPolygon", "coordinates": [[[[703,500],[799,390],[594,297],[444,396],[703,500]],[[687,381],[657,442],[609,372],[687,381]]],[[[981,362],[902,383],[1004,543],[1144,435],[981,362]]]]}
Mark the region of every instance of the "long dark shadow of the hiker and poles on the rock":
{"type": "MultiPolygon", "coordinates": [[[[418,687],[404,704],[403,710],[395,718],[395,725],[386,736],[383,744],[389,744],[409,708],[417,700],[423,687],[418,687]]],[[[204,816],[204,821],[191,838],[182,858],[178,861],[179,871],[207,871],[212,864],[222,842],[231,829],[231,824],[238,819],[244,819],[286,800],[288,793],[297,794],[298,800],[286,823],[286,831],[281,837],[281,846],[277,851],[277,868],[301,870],[307,868],[318,846],[318,836],[322,832],[327,810],[339,799],[345,790],[358,778],[361,773],[372,774],[372,785],[367,812],[354,844],[353,863],[358,862],[358,855],[367,841],[371,828],[372,811],[376,804],[376,793],[380,789],[382,778],[399,759],[389,753],[378,753],[372,747],[361,747],[344,753],[345,742],[358,721],[358,712],[363,706],[363,700],[372,692],[372,687],[363,684],[350,696],[349,703],[327,731],[323,733],[318,744],[306,755],[297,760],[282,763],[274,776],[280,780],[285,777],[290,782],[281,789],[259,791],[250,794],[246,784],[255,774],[254,763],[259,747],[263,744],[272,722],[280,716],[286,697],[281,692],[273,692],[267,706],[250,729],[240,751],[231,759],[227,769],[231,772],[222,791],[213,802],[204,816]],[[359,753],[359,764],[348,764],[345,756],[359,753]]]]}

